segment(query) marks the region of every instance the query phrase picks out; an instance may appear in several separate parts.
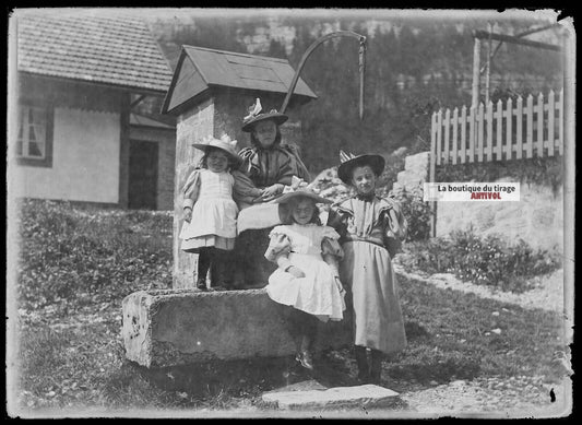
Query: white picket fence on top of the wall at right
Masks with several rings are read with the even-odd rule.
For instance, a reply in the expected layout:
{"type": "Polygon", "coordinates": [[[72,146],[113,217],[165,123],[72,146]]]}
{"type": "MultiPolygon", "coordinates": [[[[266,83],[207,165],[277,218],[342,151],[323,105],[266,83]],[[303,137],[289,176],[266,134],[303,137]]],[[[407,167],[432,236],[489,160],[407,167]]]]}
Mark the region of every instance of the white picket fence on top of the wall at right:
{"type": "Polygon", "coordinates": [[[562,155],[563,88],[432,114],[431,165],[562,155]]]}

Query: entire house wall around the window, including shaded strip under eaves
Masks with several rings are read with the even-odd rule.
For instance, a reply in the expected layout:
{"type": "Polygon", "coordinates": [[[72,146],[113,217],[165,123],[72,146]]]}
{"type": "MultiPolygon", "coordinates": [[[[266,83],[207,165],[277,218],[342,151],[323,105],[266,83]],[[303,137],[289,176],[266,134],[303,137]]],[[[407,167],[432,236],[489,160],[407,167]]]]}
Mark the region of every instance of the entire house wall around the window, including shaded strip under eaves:
{"type": "Polygon", "coordinates": [[[13,193],[120,202],[121,105],[127,95],[109,87],[28,74],[20,75],[17,93],[19,102],[54,108],[52,164],[15,163],[11,168],[13,193]]]}

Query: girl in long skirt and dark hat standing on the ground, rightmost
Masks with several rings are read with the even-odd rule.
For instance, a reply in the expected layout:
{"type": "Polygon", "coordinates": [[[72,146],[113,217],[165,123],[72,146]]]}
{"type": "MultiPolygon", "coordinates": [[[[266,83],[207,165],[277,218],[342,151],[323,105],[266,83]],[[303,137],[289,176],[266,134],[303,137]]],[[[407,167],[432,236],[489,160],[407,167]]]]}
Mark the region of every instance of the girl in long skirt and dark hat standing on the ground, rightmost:
{"type": "Polygon", "coordinates": [[[376,196],[384,158],[344,152],[340,155],[337,176],[356,194],[332,205],[328,224],[342,235],[345,255],[340,276],[352,297],[358,378],[366,383],[379,383],[382,353],[400,351],[406,345],[391,260],[395,255],[393,247],[406,235],[407,224],[396,201],[376,196]]]}

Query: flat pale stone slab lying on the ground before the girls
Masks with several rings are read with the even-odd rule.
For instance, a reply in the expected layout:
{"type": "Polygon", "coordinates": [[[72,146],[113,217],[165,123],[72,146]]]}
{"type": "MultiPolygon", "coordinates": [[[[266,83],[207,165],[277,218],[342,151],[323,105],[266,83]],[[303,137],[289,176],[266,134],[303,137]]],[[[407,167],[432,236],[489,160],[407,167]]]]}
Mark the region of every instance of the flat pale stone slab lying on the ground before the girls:
{"type": "Polygon", "coordinates": [[[325,390],[272,391],[262,400],[278,409],[336,409],[349,406],[385,406],[397,400],[399,393],[388,388],[365,385],[335,387],[325,390]]]}

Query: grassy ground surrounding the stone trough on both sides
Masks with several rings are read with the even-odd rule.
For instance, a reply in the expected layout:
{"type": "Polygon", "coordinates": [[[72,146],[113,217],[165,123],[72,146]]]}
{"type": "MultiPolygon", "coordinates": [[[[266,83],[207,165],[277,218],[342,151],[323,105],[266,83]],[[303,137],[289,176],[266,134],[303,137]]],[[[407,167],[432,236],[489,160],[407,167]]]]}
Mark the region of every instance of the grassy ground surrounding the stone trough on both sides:
{"type": "MultiPolygon", "coordinates": [[[[170,287],[171,216],[41,201],[25,205],[20,410],[261,409],[263,391],[306,378],[288,358],[152,370],[126,361],[121,300],[152,285],[170,287]]],[[[390,388],[494,376],[555,382],[567,375],[559,315],[403,278],[400,286],[408,346],[384,358],[390,388]]],[[[348,349],[326,353],[319,368],[318,378],[334,377],[335,385],[349,385],[356,374],[348,349]]]]}

